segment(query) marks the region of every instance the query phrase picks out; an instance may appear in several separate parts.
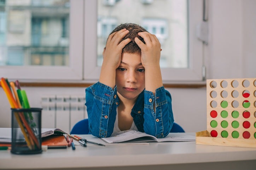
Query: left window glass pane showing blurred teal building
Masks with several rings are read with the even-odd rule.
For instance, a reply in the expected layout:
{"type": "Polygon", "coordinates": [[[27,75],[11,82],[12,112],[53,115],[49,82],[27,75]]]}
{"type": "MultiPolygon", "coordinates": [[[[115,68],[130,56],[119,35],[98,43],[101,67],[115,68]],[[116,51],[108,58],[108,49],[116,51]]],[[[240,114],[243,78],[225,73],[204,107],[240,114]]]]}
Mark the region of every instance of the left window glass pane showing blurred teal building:
{"type": "Polygon", "coordinates": [[[69,65],[69,0],[1,0],[0,65],[69,65]]]}

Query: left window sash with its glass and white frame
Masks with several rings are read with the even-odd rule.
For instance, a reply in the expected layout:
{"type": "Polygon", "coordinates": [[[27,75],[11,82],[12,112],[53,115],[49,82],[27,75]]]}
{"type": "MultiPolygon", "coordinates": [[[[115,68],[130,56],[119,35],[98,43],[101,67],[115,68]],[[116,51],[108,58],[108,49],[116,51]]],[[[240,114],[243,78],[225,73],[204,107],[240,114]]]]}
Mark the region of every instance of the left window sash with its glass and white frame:
{"type": "Polygon", "coordinates": [[[82,80],[83,0],[0,3],[0,72],[19,80],[82,80]]]}

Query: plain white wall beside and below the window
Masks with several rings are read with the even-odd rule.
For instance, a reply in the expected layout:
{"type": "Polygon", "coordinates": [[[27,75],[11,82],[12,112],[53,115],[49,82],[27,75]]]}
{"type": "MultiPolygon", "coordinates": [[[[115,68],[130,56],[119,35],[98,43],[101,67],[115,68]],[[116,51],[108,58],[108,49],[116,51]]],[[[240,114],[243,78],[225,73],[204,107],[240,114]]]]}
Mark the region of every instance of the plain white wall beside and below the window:
{"type": "MultiPolygon", "coordinates": [[[[209,44],[204,51],[207,79],[256,77],[255,9],[255,0],[209,0],[209,44]]],[[[33,107],[41,107],[41,97],[47,94],[85,94],[85,88],[23,89],[33,107]]],[[[168,90],[175,122],[186,132],[206,130],[206,89],[168,90]]],[[[3,90],[0,96],[0,127],[11,127],[10,105],[3,90]]]]}

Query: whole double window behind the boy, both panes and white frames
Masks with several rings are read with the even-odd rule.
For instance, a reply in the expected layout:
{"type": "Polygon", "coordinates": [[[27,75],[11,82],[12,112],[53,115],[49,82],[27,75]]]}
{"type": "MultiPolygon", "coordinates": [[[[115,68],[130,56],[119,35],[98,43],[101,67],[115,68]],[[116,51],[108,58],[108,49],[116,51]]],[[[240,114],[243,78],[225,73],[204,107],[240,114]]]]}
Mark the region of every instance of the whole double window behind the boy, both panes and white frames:
{"type": "Polygon", "coordinates": [[[137,23],[161,42],[164,83],[202,81],[202,8],[202,0],[0,1],[0,72],[10,80],[94,83],[110,31],[137,23]]]}

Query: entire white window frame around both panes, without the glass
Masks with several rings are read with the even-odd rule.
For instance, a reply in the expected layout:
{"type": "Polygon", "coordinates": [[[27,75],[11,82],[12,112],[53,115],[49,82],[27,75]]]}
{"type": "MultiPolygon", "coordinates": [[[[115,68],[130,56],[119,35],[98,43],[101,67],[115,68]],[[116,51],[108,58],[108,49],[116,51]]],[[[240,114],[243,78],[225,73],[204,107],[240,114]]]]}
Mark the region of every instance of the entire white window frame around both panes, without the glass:
{"type": "MultiPolygon", "coordinates": [[[[197,39],[197,24],[203,18],[203,0],[189,4],[189,68],[161,68],[164,84],[203,83],[203,43],[197,39]],[[171,74],[170,74],[171,73],[171,74]]],[[[99,80],[97,67],[97,1],[70,1],[69,66],[0,66],[2,77],[23,82],[82,82],[99,80]]]]}

